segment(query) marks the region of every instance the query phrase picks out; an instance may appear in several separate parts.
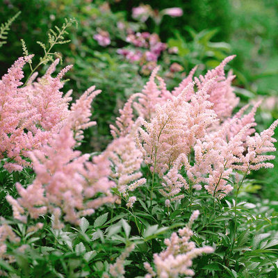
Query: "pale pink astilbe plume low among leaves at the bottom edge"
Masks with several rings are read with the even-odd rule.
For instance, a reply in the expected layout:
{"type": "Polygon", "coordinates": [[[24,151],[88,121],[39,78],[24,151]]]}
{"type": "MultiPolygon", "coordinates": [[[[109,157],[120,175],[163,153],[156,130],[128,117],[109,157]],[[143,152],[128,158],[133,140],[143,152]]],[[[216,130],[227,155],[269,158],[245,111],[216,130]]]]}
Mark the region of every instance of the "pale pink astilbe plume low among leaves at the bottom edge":
{"type": "Polygon", "coordinates": [[[199,211],[194,211],[186,227],[179,229],[178,234],[173,233],[170,238],[164,240],[167,248],[160,254],[154,254],[155,268],[152,268],[149,263],[144,263],[145,269],[149,272],[145,278],[178,278],[181,277],[180,275],[186,275],[186,277],[195,275],[191,268],[193,259],[214,251],[213,247],[196,247],[195,243],[190,241],[193,236],[191,227],[198,215],[199,211]]]}

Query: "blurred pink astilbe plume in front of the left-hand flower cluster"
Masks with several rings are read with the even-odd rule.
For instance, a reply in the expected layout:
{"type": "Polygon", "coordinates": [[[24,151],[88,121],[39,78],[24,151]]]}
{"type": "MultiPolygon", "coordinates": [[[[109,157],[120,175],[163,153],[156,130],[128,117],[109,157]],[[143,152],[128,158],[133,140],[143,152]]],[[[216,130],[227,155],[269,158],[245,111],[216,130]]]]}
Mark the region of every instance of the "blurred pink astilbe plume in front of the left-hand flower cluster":
{"type": "Polygon", "coordinates": [[[81,216],[115,202],[110,192],[115,183],[108,179],[111,168],[106,154],[95,156],[90,163],[88,154],[73,150],[75,145],[73,132],[64,126],[49,144],[31,153],[35,180],[27,188],[17,183],[19,198],[7,197],[15,219],[26,222],[27,215],[38,218],[49,212],[54,215],[54,227],[61,228],[61,218],[79,224],[81,216]],[[102,195],[96,198],[99,193],[102,195]]]}

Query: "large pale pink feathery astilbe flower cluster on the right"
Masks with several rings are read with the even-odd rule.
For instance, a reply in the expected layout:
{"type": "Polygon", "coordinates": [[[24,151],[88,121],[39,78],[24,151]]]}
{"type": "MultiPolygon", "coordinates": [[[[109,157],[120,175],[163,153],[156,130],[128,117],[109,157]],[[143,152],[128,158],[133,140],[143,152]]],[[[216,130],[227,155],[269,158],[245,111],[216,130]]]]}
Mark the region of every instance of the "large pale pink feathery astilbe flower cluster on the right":
{"type": "Polygon", "coordinates": [[[231,72],[224,75],[224,66],[232,58],[227,57],[215,70],[195,78],[196,92],[196,67],[172,92],[157,76],[156,67],[138,100],[131,97],[126,113],[119,118],[117,133],[135,136],[145,163],[163,177],[160,191],[169,201],[181,199],[183,188],[204,187],[213,197],[222,198],[233,189],[227,180],[234,171],[249,174],[250,170],[272,167],[264,161],[274,156],[264,154],[275,151],[272,136],[277,122],[252,136],[259,103],[247,114],[245,106],[232,116],[238,104],[231,87],[234,76],[231,72]],[[132,101],[138,120],[133,120],[132,101]]]}

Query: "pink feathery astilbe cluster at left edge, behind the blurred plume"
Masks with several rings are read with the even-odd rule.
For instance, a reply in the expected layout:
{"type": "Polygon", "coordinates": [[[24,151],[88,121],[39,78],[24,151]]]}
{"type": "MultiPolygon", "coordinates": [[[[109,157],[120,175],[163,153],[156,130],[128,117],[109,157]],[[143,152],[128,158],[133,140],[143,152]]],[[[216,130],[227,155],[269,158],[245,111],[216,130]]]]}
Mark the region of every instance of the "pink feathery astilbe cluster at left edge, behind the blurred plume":
{"type": "Polygon", "coordinates": [[[40,79],[35,81],[37,74],[33,74],[28,83],[20,87],[23,84],[20,80],[24,77],[22,67],[31,58],[19,58],[0,81],[0,159],[8,158],[4,167],[10,172],[31,166],[26,160],[28,152],[40,149],[68,122],[71,122],[77,140],[83,138],[81,129],[94,124],[88,117],[92,99],[99,91],[90,88],[70,111],[72,92],[63,97],[60,89],[63,88],[61,79],[71,66],[53,78],[51,74],[58,59],[40,79]]]}

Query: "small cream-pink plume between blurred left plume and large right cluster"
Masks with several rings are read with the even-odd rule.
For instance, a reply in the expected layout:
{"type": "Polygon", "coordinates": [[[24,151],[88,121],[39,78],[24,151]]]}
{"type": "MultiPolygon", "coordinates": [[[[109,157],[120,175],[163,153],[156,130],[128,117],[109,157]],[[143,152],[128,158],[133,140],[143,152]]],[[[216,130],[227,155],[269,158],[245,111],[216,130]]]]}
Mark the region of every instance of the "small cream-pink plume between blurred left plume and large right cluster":
{"type": "Polygon", "coordinates": [[[106,152],[112,163],[111,177],[116,181],[119,193],[129,201],[129,207],[132,207],[136,199],[130,199],[130,193],[146,183],[140,172],[142,153],[131,136],[114,139],[106,152]]]}

